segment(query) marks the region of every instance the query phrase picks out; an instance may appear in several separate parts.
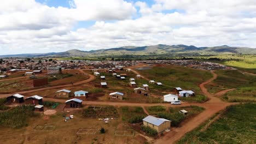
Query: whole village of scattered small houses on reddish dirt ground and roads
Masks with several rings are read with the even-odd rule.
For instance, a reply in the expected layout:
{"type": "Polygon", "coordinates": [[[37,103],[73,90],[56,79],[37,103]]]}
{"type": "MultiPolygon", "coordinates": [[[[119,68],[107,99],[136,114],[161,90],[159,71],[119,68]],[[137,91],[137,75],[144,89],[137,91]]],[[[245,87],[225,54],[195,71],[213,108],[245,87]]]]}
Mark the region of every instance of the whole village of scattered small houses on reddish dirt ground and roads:
{"type": "Polygon", "coordinates": [[[217,79],[214,70],[236,70],[193,60],[15,58],[2,59],[0,68],[0,97],[7,107],[0,111],[27,105],[38,114],[31,116],[36,122],[28,125],[29,134],[16,130],[15,138],[2,137],[14,143],[45,139],[37,134],[67,143],[174,143],[231,105],[220,96],[234,88],[210,93],[207,85],[217,79]],[[166,75],[177,77],[167,80],[166,75]],[[53,136],[65,133],[67,127],[71,136],[64,140],[53,136]]]}

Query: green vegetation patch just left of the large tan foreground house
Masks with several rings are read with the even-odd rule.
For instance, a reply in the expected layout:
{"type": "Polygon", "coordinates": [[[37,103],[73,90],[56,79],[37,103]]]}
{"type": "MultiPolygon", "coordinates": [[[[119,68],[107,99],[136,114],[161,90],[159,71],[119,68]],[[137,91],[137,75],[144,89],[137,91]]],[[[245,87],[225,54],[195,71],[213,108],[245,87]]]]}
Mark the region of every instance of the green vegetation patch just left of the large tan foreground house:
{"type": "Polygon", "coordinates": [[[127,121],[129,123],[139,123],[142,122],[142,119],[146,117],[142,107],[139,106],[121,106],[120,114],[122,116],[123,121],[127,121]]]}

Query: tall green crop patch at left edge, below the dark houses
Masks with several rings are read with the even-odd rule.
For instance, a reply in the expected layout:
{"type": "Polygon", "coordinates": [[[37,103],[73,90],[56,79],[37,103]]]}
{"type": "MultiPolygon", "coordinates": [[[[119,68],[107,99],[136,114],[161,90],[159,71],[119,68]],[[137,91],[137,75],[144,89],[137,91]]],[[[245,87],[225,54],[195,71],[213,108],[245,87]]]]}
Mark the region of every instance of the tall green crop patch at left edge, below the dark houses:
{"type": "Polygon", "coordinates": [[[33,105],[13,107],[0,113],[0,125],[11,128],[25,127],[30,117],[36,117],[33,105]]]}

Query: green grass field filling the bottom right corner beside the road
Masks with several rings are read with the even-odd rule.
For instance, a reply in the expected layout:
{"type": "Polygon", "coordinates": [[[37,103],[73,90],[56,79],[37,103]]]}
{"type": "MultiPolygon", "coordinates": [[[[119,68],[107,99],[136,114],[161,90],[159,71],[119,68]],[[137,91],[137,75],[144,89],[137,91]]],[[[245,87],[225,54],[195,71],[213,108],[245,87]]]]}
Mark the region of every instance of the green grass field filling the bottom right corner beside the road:
{"type": "Polygon", "coordinates": [[[177,143],[256,143],[255,109],[256,104],[229,106],[206,130],[204,123],[177,143]]]}

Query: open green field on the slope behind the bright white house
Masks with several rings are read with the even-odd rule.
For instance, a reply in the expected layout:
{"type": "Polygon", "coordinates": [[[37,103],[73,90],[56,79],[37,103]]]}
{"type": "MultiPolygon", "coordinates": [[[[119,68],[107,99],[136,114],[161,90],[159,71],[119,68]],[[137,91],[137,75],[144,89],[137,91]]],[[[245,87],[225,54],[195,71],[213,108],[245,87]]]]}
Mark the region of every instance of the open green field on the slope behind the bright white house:
{"type": "Polygon", "coordinates": [[[196,94],[201,94],[199,88],[200,83],[212,77],[210,71],[169,65],[153,67],[148,70],[139,70],[139,73],[148,77],[150,80],[155,80],[165,85],[164,87],[154,87],[162,91],[164,90],[162,94],[165,94],[165,91],[173,91],[174,87],[193,90],[196,94]]]}

